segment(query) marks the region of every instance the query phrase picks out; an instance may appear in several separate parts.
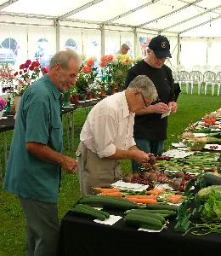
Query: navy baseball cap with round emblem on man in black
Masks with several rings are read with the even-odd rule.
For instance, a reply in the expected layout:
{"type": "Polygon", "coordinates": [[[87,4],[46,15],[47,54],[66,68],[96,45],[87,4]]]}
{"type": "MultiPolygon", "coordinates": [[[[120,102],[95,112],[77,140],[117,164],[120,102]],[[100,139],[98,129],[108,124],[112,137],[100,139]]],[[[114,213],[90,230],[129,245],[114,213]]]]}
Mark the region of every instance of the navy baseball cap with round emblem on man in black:
{"type": "Polygon", "coordinates": [[[152,49],[158,59],[171,58],[170,43],[164,36],[157,36],[152,38],[148,45],[149,49],[152,49]]]}

